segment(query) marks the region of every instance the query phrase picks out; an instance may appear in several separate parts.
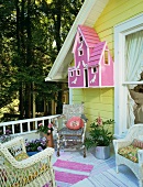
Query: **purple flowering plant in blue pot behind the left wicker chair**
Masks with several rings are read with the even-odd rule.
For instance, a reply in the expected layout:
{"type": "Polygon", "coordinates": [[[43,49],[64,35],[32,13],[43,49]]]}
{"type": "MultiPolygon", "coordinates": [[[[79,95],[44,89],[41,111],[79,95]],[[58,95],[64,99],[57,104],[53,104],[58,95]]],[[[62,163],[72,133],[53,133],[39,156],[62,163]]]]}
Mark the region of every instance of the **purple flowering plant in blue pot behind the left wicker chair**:
{"type": "Polygon", "coordinates": [[[25,140],[25,148],[29,156],[41,152],[46,148],[46,138],[35,139],[28,141],[25,140]]]}

